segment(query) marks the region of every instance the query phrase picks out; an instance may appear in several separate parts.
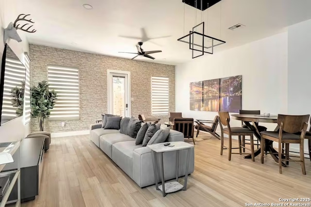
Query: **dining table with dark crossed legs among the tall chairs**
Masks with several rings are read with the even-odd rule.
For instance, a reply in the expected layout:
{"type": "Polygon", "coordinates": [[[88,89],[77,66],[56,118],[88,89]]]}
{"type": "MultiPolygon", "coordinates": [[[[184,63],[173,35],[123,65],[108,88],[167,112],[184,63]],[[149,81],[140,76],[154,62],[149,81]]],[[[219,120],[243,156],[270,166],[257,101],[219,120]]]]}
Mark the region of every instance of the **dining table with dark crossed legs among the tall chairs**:
{"type": "MultiPolygon", "coordinates": [[[[259,114],[232,114],[232,119],[240,120],[245,123],[245,125],[254,132],[254,135],[258,140],[261,140],[260,132],[258,130],[259,122],[263,123],[277,123],[277,115],[259,115],[259,114]],[[254,127],[252,127],[254,126],[254,127]]],[[[277,125],[274,131],[278,131],[279,126],[277,125]]],[[[278,153],[273,148],[273,141],[266,139],[265,140],[265,149],[266,153],[270,153],[272,158],[278,163],[278,153]]],[[[260,147],[255,151],[255,156],[260,155],[260,147]]],[[[251,155],[246,155],[244,158],[251,158],[251,155]]],[[[286,167],[285,163],[282,162],[282,166],[286,167]]]]}

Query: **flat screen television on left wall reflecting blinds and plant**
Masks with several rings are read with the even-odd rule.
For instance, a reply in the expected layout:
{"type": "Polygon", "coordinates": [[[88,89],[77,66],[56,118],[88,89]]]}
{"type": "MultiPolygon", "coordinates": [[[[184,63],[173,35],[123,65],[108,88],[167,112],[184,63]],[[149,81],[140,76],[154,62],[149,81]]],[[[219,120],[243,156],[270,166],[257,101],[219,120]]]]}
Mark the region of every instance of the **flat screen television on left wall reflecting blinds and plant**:
{"type": "Polygon", "coordinates": [[[5,44],[0,73],[0,125],[23,115],[26,68],[5,44]]]}

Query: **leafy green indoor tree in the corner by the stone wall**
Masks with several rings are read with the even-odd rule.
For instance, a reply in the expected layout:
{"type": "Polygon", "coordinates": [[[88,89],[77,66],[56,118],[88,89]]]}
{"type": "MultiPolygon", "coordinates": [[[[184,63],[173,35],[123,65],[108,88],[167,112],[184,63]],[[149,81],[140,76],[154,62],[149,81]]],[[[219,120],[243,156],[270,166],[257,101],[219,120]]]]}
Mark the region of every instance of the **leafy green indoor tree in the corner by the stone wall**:
{"type": "Polygon", "coordinates": [[[44,131],[44,119],[48,119],[55,105],[56,92],[49,89],[47,81],[31,88],[31,116],[38,118],[40,131],[44,131]]]}

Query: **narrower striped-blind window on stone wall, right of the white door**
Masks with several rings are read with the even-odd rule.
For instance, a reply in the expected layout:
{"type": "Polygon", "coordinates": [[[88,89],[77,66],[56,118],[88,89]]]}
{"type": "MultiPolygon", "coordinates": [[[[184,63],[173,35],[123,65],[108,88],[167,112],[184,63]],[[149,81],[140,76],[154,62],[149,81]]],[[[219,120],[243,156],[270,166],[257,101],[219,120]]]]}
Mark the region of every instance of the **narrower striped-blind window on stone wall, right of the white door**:
{"type": "Polygon", "coordinates": [[[169,113],[169,78],[151,77],[152,115],[169,113]]]}

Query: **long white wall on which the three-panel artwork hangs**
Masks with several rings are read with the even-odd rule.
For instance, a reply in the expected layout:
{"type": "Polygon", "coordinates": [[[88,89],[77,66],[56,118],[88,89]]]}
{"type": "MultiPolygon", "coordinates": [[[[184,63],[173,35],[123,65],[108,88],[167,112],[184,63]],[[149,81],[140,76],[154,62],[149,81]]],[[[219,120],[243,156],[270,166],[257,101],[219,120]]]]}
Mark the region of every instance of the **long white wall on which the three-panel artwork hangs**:
{"type": "MultiPolygon", "coordinates": [[[[190,111],[189,84],[242,75],[242,109],[261,113],[287,112],[287,33],[274,35],[237,48],[205,54],[176,66],[176,112],[183,117],[213,120],[217,112],[190,111]]],[[[240,121],[231,120],[240,126],[240,121]]],[[[274,130],[275,124],[266,125],[274,130]]]]}

